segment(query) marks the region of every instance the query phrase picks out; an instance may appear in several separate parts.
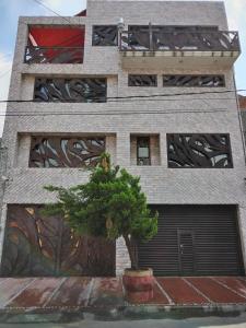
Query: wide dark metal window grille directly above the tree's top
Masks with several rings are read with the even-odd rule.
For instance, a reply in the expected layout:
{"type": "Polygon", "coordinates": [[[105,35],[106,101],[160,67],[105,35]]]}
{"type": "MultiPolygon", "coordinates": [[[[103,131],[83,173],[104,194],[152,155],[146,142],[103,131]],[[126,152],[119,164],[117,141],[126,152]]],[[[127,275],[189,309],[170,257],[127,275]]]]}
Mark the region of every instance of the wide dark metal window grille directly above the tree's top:
{"type": "Polygon", "coordinates": [[[105,138],[32,137],[30,167],[94,167],[105,138]]]}

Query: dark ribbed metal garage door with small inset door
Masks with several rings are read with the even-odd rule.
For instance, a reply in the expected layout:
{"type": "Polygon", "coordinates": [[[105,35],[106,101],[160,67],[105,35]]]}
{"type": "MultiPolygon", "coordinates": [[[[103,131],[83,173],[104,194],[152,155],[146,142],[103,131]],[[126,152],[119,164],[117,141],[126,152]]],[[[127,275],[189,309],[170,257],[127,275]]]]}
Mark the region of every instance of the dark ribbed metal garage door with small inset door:
{"type": "Polygon", "coordinates": [[[159,232],[139,245],[156,276],[244,274],[235,206],[152,206],[159,232]]]}

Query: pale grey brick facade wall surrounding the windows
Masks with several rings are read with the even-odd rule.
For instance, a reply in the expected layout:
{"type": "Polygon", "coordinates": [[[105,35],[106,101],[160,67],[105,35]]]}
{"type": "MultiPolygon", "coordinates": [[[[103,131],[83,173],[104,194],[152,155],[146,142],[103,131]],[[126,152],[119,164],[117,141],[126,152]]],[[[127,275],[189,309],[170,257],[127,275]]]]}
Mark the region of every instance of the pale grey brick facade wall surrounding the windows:
{"type": "MultiPolygon", "coordinates": [[[[10,99],[32,99],[35,77],[106,77],[109,97],[129,95],[166,94],[154,99],[114,101],[104,104],[66,103],[11,103],[8,113],[25,112],[30,116],[7,117],[3,144],[8,147],[8,181],[3,206],[8,203],[45,203],[54,201],[43,186],[52,184],[71,186],[87,179],[87,173],[77,168],[28,168],[28,147],[34,133],[101,133],[108,136],[107,149],[114,162],[141,177],[142,189],[149,203],[234,203],[246,207],[245,154],[243,150],[236,99],[233,92],[200,94],[199,87],[163,87],[162,75],[224,74],[226,86],[202,89],[202,92],[224,92],[234,89],[233,69],[221,67],[214,59],[210,67],[177,67],[159,69],[130,69],[121,67],[117,47],[92,47],[92,26],[117,24],[124,17],[126,27],[131,25],[216,25],[227,30],[222,2],[210,1],[87,1],[86,17],[67,17],[72,25],[85,26],[83,65],[26,65],[23,62],[28,24],[69,25],[62,17],[21,17],[13,62],[10,99]],[[181,5],[181,10],[180,10],[181,5]],[[156,87],[129,87],[128,74],[157,74],[156,87]],[[176,93],[197,95],[176,96],[176,93]],[[155,112],[153,114],[152,112],[155,112]],[[68,115],[59,115],[68,113],[68,115]],[[46,116],[46,113],[54,115],[46,116]],[[73,115],[80,112],[81,115],[73,115]],[[114,114],[108,114],[108,113],[114,114]],[[143,113],[144,112],[144,113],[143,113]],[[44,113],[43,116],[33,116],[44,113]],[[91,115],[86,115],[91,113],[91,115]],[[94,114],[93,114],[94,113],[94,114]],[[98,115],[99,114],[99,115],[98,115]],[[105,115],[102,115],[105,114],[105,115]],[[172,169],[167,167],[166,133],[230,133],[234,167],[230,169],[172,169]],[[157,134],[153,166],[133,164],[130,136],[157,134]],[[159,164],[157,164],[159,163],[159,164]],[[160,165],[161,164],[161,165],[160,165]]],[[[3,216],[2,216],[3,218],[3,216]]],[[[246,248],[246,214],[239,210],[241,236],[246,248]]],[[[0,244],[4,235],[2,219],[0,244]]],[[[122,256],[124,244],[117,243],[117,262],[122,256]]],[[[245,255],[246,258],[246,255],[245,255]]],[[[122,259],[126,263],[127,257],[122,259]]],[[[120,267],[120,265],[119,265],[120,267]]],[[[122,266],[121,266],[122,267],[122,266]]],[[[119,272],[120,270],[117,270],[119,272]]]]}

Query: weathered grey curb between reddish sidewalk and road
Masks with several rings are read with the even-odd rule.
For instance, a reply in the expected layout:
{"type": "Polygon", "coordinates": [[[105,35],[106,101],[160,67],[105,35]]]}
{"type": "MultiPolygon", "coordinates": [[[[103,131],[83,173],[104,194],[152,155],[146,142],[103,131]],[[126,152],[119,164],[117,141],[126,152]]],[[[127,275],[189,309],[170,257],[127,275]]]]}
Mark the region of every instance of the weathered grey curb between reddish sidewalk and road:
{"type": "Polygon", "coordinates": [[[126,305],[126,306],[63,306],[0,308],[0,324],[71,323],[91,320],[144,320],[172,318],[181,320],[194,317],[237,317],[246,313],[246,304],[208,305],[126,305]]]}

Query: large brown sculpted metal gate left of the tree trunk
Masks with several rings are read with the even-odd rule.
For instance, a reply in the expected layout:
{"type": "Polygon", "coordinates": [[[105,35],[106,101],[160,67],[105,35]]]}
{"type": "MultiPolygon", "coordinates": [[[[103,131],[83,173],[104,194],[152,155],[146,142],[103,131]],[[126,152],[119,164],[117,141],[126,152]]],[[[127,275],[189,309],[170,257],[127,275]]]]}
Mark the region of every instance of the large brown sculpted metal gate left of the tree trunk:
{"type": "Polygon", "coordinates": [[[78,237],[42,206],[8,207],[2,277],[114,276],[115,243],[78,237]]]}

